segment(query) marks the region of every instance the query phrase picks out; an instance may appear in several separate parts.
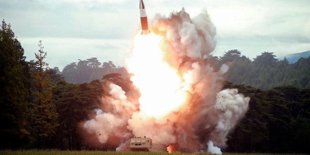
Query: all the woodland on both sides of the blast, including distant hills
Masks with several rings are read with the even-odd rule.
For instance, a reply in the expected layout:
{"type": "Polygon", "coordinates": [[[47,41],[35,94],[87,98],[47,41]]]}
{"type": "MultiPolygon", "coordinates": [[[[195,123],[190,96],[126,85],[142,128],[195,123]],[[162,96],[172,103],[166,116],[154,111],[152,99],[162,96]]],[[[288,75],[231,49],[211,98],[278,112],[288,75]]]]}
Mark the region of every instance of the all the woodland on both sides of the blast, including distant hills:
{"type": "MultiPolygon", "coordinates": [[[[24,49],[10,24],[0,28],[0,149],[113,150],[89,145],[80,122],[107,94],[107,80],[125,92],[133,87],[124,67],[97,58],[79,60],[62,71],[49,68],[42,41],[35,60],[24,49]]],[[[210,57],[215,70],[230,66],[225,88],[249,96],[249,111],[228,135],[226,152],[310,154],[310,57],[295,63],[262,52],[251,61],[233,49],[210,57]]]]}

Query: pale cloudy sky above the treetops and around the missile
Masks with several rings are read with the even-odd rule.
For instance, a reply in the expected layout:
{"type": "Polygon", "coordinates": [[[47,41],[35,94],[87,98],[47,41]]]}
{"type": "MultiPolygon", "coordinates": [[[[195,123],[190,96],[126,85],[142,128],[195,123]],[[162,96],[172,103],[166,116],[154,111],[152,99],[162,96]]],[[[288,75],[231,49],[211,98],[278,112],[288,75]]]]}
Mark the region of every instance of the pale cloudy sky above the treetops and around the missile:
{"type": "MultiPolygon", "coordinates": [[[[217,29],[214,56],[238,49],[253,59],[310,50],[310,0],[143,0],[149,23],[182,8],[206,9],[217,29]]],[[[89,58],[124,66],[140,29],[140,0],[0,0],[0,19],[34,60],[42,40],[49,67],[89,58]]]]}

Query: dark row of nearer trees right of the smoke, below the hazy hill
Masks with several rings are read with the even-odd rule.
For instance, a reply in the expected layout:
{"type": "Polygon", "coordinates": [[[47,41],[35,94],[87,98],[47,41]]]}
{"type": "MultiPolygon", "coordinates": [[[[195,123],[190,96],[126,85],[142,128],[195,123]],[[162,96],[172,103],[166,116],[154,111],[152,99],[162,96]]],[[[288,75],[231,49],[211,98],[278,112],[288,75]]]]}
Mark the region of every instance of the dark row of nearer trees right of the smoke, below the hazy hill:
{"type": "Polygon", "coordinates": [[[231,82],[225,87],[251,98],[245,118],[228,136],[227,151],[310,153],[309,89],[281,86],[264,91],[231,82]]]}

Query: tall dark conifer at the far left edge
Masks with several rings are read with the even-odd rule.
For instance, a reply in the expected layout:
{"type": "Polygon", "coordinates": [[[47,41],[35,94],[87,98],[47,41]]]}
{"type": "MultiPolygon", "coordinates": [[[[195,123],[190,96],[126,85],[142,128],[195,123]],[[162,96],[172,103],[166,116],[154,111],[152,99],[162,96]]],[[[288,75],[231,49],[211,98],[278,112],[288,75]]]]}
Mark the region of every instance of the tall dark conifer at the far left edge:
{"type": "Polygon", "coordinates": [[[21,138],[29,135],[28,110],[29,67],[24,49],[15,38],[10,24],[0,28],[0,148],[18,147],[21,138]]]}

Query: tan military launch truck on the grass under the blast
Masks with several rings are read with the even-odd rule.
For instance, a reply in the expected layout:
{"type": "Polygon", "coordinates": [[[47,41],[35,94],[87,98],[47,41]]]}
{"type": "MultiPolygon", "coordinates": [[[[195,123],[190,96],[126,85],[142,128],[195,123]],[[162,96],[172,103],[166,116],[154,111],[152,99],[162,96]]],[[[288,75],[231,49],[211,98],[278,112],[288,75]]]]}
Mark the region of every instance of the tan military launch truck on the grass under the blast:
{"type": "Polygon", "coordinates": [[[129,148],[131,151],[150,151],[150,152],[167,152],[167,146],[154,144],[151,138],[133,137],[130,139],[129,148]]]}

